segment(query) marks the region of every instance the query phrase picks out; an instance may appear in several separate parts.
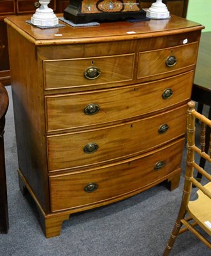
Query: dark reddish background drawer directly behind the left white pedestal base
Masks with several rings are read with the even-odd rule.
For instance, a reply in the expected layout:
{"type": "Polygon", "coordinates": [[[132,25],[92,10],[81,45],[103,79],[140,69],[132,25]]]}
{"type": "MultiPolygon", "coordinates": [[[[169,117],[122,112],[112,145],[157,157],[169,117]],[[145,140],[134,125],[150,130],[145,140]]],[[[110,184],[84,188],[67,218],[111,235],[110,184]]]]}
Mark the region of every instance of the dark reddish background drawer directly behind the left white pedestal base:
{"type": "MultiPolygon", "coordinates": [[[[48,7],[55,10],[55,0],[51,0],[48,7]]],[[[33,13],[37,8],[40,8],[39,0],[17,0],[17,13],[33,13]]]]}

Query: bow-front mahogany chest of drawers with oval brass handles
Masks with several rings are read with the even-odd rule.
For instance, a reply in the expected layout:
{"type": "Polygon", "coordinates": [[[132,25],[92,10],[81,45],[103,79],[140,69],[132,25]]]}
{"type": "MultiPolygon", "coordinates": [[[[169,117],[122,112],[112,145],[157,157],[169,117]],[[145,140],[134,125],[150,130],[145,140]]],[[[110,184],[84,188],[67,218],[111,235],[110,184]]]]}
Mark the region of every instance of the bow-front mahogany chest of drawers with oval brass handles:
{"type": "Polygon", "coordinates": [[[6,19],[18,174],[45,236],[73,212],[164,180],[177,188],[203,26],[175,16],[52,29],[25,20],[6,19]]]}

